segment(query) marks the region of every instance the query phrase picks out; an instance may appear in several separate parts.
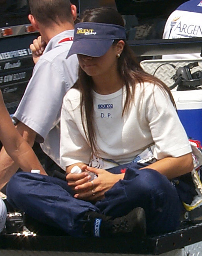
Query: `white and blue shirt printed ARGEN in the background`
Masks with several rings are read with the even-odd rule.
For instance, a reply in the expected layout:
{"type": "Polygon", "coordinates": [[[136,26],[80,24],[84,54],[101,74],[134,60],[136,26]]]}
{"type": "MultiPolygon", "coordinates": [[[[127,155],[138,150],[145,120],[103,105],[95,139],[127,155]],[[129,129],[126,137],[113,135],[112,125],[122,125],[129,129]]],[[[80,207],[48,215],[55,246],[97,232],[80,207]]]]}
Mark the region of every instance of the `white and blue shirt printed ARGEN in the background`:
{"type": "MultiPolygon", "coordinates": [[[[180,5],[168,17],[163,39],[202,37],[202,2],[191,0],[180,5]]],[[[200,53],[163,55],[162,59],[197,59],[200,53]]]]}

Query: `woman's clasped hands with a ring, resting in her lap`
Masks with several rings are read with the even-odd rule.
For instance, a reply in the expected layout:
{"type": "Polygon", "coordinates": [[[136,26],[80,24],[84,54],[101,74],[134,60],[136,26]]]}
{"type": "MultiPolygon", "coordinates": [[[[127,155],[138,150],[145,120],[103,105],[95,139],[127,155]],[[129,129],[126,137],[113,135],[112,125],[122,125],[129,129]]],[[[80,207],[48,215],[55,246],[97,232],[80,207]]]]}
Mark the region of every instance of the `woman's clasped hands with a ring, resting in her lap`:
{"type": "Polygon", "coordinates": [[[104,198],[104,193],[111,189],[115,183],[123,179],[124,173],[113,174],[104,169],[98,169],[83,165],[82,173],[68,173],[66,181],[76,194],[77,199],[86,201],[99,201],[104,198]],[[98,178],[90,181],[91,176],[88,171],[95,173],[98,178]]]}

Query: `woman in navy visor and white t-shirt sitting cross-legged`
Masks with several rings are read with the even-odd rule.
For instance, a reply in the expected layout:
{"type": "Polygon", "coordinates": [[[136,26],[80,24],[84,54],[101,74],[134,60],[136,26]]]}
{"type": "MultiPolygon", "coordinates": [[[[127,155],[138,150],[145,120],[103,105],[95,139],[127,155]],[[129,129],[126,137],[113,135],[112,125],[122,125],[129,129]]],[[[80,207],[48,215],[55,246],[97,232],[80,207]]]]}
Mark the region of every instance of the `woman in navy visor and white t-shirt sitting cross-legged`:
{"type": "Polygon", "coordinates": [[[80,70],[61,112],[66,181],[17,174],[9,202],[73,236],[175,230],[181,200],[170,179],[191,172],[193,161],[169,89],[141,69],[112,8],[83,13],[72,54],[80,70]],[[75,165],[81,173],[71,173],[75,165]]]}

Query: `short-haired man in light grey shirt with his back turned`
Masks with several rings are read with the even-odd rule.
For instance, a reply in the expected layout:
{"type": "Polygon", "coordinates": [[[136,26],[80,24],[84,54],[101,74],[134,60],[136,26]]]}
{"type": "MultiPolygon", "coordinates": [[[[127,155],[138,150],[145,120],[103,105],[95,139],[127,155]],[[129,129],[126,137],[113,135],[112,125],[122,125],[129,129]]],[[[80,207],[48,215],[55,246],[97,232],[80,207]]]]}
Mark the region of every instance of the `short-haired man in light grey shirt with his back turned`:
{"type": "MultiPolygon", "coordinates": [[[[61,105],[64,95],[77,80],[77,56],[66,59],[72,45],[77,9],[69,0],[29,0],[29,7],[29,21],[47,45],[13,117],[24,139],[31,146],[34,141],[39,142],[43,151],[60,166],[61,105]]],[[[0,152],[0,189],[18,167],[3,148],[0,152]]]]}

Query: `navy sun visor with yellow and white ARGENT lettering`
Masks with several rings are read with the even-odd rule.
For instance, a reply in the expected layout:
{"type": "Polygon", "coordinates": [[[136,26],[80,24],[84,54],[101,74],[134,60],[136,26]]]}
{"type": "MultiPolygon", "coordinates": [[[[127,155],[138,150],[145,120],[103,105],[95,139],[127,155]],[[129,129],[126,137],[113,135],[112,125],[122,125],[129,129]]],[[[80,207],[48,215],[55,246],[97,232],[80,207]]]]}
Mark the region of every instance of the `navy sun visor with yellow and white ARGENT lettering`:
{"type": "Polygon", "coordinates": [[[74,41],[66,58],[72,54],[101,57],[109,50],[115,39],[126,39],[124,27],[96,22],[77,23],[74,41]]]}

